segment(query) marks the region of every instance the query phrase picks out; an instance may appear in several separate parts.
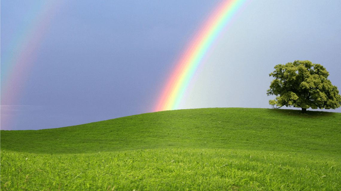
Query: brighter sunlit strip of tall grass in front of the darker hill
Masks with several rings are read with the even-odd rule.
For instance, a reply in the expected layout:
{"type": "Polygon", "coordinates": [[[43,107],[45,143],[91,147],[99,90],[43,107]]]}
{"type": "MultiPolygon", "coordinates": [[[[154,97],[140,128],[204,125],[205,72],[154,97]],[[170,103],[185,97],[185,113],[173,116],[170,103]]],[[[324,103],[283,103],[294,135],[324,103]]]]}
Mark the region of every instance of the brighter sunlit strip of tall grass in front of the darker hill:
{"type": "Polygon", "coordinates": [[[292,152],[147,149],[2,151],[1,190],[339,190],[340,161],[292,152]]]}

